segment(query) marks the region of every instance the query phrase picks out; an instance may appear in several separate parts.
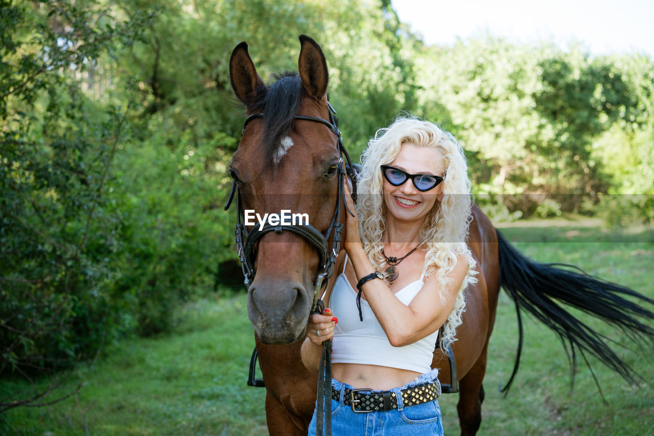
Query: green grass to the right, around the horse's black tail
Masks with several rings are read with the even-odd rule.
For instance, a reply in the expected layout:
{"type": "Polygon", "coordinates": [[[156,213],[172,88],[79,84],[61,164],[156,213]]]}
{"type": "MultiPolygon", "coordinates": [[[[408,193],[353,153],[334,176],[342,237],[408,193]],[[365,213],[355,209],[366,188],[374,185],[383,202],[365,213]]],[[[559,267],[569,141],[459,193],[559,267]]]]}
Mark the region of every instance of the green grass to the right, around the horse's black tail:
{"type": "MultiPolygon", "coordinates": [[[[526,222],[502,228],[502,233],[526,256],[543,262],[570,263],[587,273],[630,286],[654,298],[654,238],[651,230],[612,232],[594,221],[526,222]],[[525,241],[525,242],[521,242],[525,241]]],[[[510,225],[508,225],[510,226],[510,225]]],[[[524,313],[524,312],[523,312],[524,313]]],[[[611,339],[623,335],[583,314],[579,318],[611,339]]],[[[579,358],[579,371],[570,389],[568,358],[559,339],[524,316],[525,346],[520,370],[507,397],[498,390],[508,381],[517,347],[515,305],[500,294],[496,325],[489,346],[482,435],[653,435],[654,388],[629,386],[615,373],[591,360],[602,388],[579,358]],[[605,402],[606,401],[606,402],[605,402]]],[[[645,380],[654,380],[654,349],[620,350],[645,380]]],[[[458,433],[456,395],[441,397],[445,433],[458,433]]]]}

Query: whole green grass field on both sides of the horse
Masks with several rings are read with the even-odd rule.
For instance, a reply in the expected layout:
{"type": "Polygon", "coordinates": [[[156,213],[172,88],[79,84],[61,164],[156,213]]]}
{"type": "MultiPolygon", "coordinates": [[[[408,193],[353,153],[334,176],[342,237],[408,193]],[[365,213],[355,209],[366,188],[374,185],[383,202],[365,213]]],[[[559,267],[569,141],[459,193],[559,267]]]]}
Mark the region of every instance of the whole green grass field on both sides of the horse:
{"type": "MultiPolygon", "coordinates": [[[[503,227],[509,241],[530,258],[579,265],[654,297],[651,230],[609,232],[587,220],[503,227]]],[[[254,345],[245,295],[222,294],[181,308],[181,314],[173,334],[124,341],[94,363],[79,365],[67,385],[70,389],[86,382],[78,395],[52,407],[23,407],[0,415],[0,434],[267,434],[265,391],[245,384],[254,345]]],[[[623,344],[623,335],[590,322],[623,344]]],[[[627,385],[591,360],[602,394],[583,361],[571,389],[568,358],[557,337],[531,318],[526,317],[525,324],[520,371],[504,398],[498,387],[513,369],[517,323],[512,301],[501,295],[480,435],[654,435],[653,386],[627,385]]],[[[653,348],[619,353],[645,380],[654,380],[653,348]]],[[[0,399],[29,397],[32,392],[20,378],[0,380],[0,399]]],[[[458,434],[457,399],[445,395],[440,400],[446,434],[458,434]]]]}

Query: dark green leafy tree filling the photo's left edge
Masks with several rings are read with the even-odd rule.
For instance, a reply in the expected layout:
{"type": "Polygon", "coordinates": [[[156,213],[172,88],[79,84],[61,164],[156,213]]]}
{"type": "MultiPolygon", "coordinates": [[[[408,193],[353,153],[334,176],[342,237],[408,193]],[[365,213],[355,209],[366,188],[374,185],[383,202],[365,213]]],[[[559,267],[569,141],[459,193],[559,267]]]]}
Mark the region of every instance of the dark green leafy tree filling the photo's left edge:
{"type": "Polygon", "coordinates": [[[121,218],[104,194],[126,110],[67,74],[133,29],[94,6],[2,4],[0,373],[69,365],[123,327],[107,288],[121,218]]]}

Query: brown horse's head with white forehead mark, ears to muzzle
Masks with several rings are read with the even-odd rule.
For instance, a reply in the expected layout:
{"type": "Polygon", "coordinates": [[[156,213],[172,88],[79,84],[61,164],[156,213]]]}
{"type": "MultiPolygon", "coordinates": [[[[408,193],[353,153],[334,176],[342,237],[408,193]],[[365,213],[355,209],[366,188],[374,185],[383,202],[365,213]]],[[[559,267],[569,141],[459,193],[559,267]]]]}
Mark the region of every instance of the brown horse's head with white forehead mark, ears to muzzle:
{"type": "Polygon", "coordinates": [[[327,101],[327,65],[313,39],[302,35],[300,42],[299,75],[275,75],[270,86],[245,42],[230,58],[232,88],[247,114],[230,163],[243,220],[237,246],[251,280],[248,316],[266,344],[305,335],[343,218],[342,145],[327,101]]]}

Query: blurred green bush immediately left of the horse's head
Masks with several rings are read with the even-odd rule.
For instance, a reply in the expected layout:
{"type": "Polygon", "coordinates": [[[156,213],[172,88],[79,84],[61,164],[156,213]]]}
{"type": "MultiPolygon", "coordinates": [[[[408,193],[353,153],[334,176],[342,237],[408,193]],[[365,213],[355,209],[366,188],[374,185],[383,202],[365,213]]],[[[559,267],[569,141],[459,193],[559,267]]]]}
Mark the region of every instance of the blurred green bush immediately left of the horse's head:
{"type": "MultiPolygon", "coordinates": [[[[162,129],[124,144],[114,167],[122,201],[121,259],[114,292],[135,296],[138,331],[166,331],[182,301],[215,290],[217,264],[232,258],[228,214],[217,188],[227,182],[235,139],[215,132],[196,144],[192,131],[162,129]]],[[[232,223],[233,224],[233,223],[232,223]]]]}

